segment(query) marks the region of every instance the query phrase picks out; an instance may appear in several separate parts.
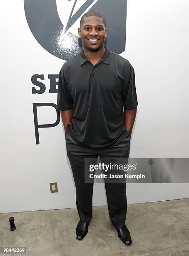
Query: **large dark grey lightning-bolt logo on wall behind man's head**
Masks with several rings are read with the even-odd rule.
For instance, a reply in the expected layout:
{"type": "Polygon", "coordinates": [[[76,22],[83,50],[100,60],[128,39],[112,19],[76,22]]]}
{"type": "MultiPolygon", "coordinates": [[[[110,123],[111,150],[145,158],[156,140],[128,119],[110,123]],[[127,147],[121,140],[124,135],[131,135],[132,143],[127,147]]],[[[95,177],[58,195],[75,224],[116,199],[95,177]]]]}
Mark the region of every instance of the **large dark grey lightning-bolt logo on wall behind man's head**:
{"type": "Polygon", "coordinates": [[[125,51],[127,0],[24,0],[28,26],[37,42],[54,56],[68,60],[80,53],[80,18],[97,10],[107,23],[105,44],[117,54],[125,51]]]}

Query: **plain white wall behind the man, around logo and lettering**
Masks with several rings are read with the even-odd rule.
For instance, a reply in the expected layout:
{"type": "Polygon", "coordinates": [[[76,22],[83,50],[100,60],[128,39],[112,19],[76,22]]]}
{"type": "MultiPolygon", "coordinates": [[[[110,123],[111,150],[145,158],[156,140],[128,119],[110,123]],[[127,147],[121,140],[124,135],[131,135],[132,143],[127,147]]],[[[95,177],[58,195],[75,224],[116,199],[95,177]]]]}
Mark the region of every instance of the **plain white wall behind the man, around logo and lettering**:
{"type": "MultiPolygon", "coordinates": [[[[1,3],[0,212],[76,207],[62,122],[39,131],[35,143],[32,104],[53,102],[48,74],[63,60],[38,44],[23,1],[1,3]],[[32,94],[31,77],[45,74],[46,91],[32,94]],[[50,182],[58,193],[50,194],[50,182]]],[[[188,158],[189,2],[128,0],[126,49],[135,69],[138,110],[130,157],[188,158]]],[[[111,49],[110,49],[111,50],[111,49]]],[[[54,108],[40,108],[39,123],[54,123],[54,108]]],[[[189,197],[188,184],[127,184],[128,203],[189,197]]],[[[106,205],[104,184],[94,184],[94,205],[106,205]]]]}

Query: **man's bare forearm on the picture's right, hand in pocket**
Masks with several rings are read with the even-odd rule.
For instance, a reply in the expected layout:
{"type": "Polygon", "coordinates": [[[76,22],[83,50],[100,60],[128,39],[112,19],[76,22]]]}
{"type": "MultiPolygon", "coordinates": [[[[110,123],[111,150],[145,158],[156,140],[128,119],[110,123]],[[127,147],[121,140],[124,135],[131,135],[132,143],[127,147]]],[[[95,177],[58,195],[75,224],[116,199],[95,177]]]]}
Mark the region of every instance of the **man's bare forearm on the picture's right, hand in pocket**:
{"type": "Polygon", "coordinates": [[[132,133],[136,113],[137,107],[133,109],[124,108],[124,127],[129,132],[130,135],[132,133]]]}

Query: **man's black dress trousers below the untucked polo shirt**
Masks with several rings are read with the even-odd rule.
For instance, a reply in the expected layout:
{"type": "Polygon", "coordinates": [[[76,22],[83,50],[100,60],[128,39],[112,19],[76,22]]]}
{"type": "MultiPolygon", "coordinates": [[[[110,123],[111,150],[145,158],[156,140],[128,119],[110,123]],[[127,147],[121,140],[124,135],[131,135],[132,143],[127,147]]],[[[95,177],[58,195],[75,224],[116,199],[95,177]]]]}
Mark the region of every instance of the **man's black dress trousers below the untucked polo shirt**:
{"type": "MultiPolygon", "coordinates": [[[[78,145],[67,131],[66,149],[67,156],[73,173],[76,188],[77,211],[82,222],[89,222],[92,218],[92,194],[93,183],[85,183],[85,158],[94,159],[93,164],[99,158],[128,158],[130,150],[130,136],[120,143],[107,149],[91,149],[78,145]]],[[[109,217],[115,227],[125,224],[127,215],[126,180],[124,183],[106,183],[106,196],[109,217]]]]}

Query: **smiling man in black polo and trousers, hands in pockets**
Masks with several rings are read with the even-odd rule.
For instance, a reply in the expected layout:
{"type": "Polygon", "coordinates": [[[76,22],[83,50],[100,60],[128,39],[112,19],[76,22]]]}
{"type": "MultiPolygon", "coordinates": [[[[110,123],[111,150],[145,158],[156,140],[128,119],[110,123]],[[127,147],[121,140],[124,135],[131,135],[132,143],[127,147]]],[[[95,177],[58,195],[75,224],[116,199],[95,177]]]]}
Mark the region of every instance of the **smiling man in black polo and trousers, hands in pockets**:
{"type": "MultiPolygon", "coordinates": [[[[93,183],[85,183],[85,158],[128,158],[137,111],[134,69],[104,44],[107,28],[97,11],[85,13],[78,28],[82,50],[60,70],[57,109],[61,110],[67,156],[76,187],[80,221],[76,238],[83,239],[92,218],[93,183]]],[[[105,183],[109,217],[119,238],[132,243],[125,225],[125,183],[105,183]]]]}

